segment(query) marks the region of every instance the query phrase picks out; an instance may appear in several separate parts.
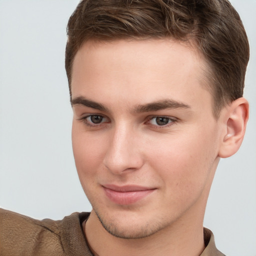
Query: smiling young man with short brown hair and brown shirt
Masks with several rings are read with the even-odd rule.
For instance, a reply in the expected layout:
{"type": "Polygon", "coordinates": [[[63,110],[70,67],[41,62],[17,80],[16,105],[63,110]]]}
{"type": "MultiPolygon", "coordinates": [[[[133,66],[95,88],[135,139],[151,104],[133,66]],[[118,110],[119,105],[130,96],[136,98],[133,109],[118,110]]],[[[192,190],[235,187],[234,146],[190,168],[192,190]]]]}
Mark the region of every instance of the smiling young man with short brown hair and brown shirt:
{"type": "Polygon", "coordinates": [[[86,0],[67,33],[73,152],[92,211],[38,221],[1,210],[0,253],[223,255],[202,223],[248,118],[238,14],[225,0],[86,0]]]}

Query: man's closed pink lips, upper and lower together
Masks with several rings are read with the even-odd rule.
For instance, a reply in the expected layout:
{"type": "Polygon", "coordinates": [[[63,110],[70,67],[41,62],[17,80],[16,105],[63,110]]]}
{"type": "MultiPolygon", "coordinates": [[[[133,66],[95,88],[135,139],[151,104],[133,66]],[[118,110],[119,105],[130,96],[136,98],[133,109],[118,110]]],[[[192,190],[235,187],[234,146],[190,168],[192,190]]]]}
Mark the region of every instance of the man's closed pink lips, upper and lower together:
{"type": "Polygon", "coordinates": [[[102,187],[104,189],[105,195],[112,202],[117,204],[135,203],[156,189],[137,185],[117,186],[114,184],[104,184],[102,187]]]}

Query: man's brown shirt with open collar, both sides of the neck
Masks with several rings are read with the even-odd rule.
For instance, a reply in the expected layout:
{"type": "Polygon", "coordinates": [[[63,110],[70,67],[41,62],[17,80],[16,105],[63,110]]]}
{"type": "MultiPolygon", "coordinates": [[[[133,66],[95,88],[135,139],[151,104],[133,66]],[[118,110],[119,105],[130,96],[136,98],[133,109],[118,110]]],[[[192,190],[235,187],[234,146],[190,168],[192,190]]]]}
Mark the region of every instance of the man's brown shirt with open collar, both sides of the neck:
{"type": "MultiPolygon", "coordinates": [[[[36,220],[0,208],[0,256],[92,256],[81,223],[89,212],[75,212],[62,220],[36,220]]],[[[205,249],[200,256],[224,256],[204,228],[205,249]]]]}

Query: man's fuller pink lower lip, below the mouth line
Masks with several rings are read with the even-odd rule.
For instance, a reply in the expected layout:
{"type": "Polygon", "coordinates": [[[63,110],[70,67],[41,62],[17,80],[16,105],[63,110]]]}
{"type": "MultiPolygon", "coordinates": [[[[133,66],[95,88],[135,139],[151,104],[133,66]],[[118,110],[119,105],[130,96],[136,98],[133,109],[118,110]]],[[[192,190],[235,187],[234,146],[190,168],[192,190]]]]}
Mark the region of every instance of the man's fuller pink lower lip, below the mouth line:
{"type": "Polygon", "coordinates": [[[106,187],[103,187],[106,196],[114,203],[117,204],[131,204],[135,203],[138,200],[146,197],[152,193],[155,189],[141,190],[141,191],[128,191],[128,192],[119,192],[106,187]]]}

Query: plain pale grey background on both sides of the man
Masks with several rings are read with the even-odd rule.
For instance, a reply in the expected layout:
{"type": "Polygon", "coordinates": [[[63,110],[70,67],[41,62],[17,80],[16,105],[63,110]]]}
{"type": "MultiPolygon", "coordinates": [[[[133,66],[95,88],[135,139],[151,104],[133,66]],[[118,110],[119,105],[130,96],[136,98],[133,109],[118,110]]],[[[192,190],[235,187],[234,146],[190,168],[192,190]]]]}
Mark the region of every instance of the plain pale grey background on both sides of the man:
{"type": "MultiPolygon", "coordinates": [[[[0,0],[0,206],[60,219],[91,209],[76,175],[64,70],[65,26],[78,0],[0,0]]],[[[234,156],[221,159],[204,225],[227,255],[256,255],[256,0],[232,0],[251,58],[250,119],[234,156]]]]}

